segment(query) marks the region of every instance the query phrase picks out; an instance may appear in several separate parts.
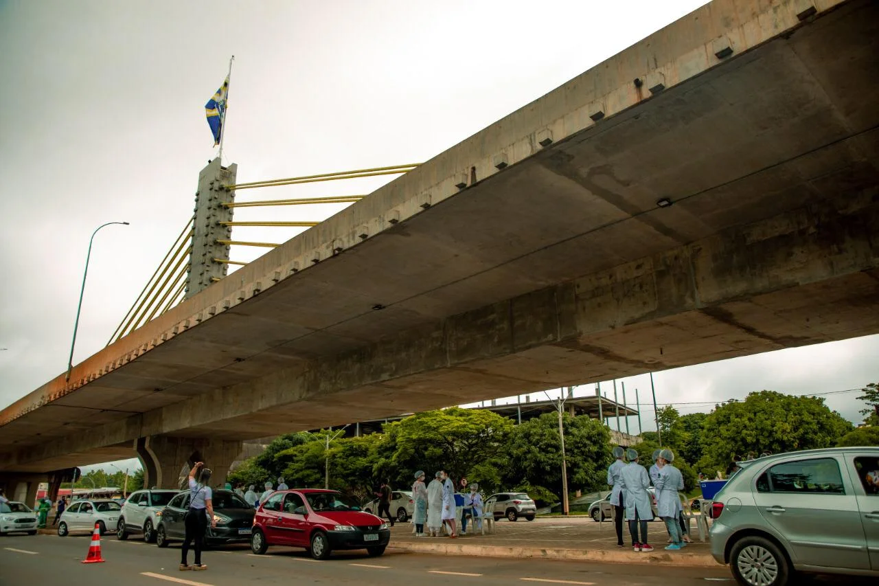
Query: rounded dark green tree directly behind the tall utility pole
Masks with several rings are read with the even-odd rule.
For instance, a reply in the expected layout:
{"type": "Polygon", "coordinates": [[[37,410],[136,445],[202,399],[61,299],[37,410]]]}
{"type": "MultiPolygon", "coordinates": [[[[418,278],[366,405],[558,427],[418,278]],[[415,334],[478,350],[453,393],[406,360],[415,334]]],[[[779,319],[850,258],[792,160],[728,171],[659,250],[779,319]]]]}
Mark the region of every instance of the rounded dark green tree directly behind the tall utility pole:
{"type": "MultiPolygon", "coordinates": [[[[592,491],[606,486],[611,463],[610,433],[585,415],[563,415],[568,487],[592,491]]],[[[510,486],[547,487],[562,494],[562,445],[558,414],[542,414],[512,432],[506,450],[504,479],[510,486]]]]}

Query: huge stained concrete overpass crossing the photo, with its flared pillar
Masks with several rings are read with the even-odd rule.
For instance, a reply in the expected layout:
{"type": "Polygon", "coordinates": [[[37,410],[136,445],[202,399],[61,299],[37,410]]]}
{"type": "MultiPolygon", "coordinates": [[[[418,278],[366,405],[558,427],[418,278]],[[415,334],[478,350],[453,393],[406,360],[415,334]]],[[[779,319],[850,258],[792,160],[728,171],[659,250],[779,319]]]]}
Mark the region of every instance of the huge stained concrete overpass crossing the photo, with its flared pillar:
{"type": "Polygon", "coordinates": [[[0,413],[0,470],[879,332],[879,4],[715,0],[0,413]],[[669,205],[671,204],[671,205],[669,205]]]}

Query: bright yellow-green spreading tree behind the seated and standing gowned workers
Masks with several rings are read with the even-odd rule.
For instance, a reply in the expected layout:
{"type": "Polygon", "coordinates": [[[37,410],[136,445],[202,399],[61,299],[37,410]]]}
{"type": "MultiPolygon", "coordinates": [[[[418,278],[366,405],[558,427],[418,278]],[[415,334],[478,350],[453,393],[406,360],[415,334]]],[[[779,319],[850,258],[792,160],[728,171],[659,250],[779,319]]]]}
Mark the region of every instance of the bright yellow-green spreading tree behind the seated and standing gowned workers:
{"type": "Polygon", "coordinates": [[[466,476],[484,483],[486,479],[473,472],[498,458],[512,429],[511,420],[483,409],[452,407],[415,414],[384,426],[394,451],[379,463],[379,472],[408,483],[416,470],[428,476],[446,470],[454,479],[466,476]]]}

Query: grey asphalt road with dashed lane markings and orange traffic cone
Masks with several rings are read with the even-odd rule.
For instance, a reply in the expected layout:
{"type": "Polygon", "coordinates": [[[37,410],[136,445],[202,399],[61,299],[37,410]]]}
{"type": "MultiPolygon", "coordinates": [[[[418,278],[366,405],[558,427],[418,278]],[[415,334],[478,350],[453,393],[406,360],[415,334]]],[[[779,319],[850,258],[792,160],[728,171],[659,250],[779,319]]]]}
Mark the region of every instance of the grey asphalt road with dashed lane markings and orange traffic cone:
{"type": "MultiPolygon", "coordinates": [[[[730,584],[725,568],[658,568],[649,565],[606,565],[556,560],[509,560],[450,557],[416,553],[388,553],[380,558],[365,553],[337,553],[331,560],[316,561],[303,550],[273,547],[266,555],[253,555],[247,546],[211,550],[202,561],[205,571],[178,570],[178,545],[159,549],[141,540],[102,538],[105,563],[83,564],[91,536],[58,538],[48,535],[0,538],[0,586],[51,584],[52,586],[242,586],[247,584],[297,584],[359,586],[509,586],[510,584],[590,586],[675,586],[730,584]]],[[[190,554],[192,555],[192,553],[190,554]]],[[[190,560],[192,562],[192,559],[190,560]]],[[[798,582],[802,583],[802,582],[798,582]]],[[[819,579],[822,586],[867,582],[819,579]]]]}

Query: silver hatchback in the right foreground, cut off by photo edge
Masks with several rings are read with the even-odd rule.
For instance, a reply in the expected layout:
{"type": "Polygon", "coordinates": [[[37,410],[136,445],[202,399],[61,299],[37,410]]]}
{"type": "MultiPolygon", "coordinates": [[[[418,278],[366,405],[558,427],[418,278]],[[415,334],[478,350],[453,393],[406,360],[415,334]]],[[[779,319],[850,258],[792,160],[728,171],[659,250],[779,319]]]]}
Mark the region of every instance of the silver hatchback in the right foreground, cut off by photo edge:
{"type": "Polygon", "coordinates": [[[795,572],[879,576],[879,448],[739,462],[714,497],[711,554],[745,586],[795,572]]]}

